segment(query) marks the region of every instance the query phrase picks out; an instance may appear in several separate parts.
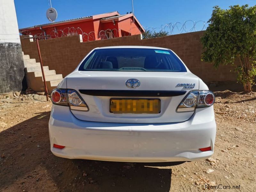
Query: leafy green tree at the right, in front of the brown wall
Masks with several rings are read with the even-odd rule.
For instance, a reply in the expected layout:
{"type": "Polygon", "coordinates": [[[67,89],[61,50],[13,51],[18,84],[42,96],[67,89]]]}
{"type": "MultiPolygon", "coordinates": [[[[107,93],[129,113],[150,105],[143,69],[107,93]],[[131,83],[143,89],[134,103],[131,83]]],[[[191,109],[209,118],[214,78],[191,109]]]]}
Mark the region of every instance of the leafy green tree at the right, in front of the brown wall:
{"type": "Polygon", "coordinates": [[[244,91],[252,91],[256,76],[256,6],[230,6],[223,10],[215,6],[201,42],[204,47],[202,60],[234,65],[237,81],[244,91]],[[236,62],[235,62],[236,61],[236,62]]]}

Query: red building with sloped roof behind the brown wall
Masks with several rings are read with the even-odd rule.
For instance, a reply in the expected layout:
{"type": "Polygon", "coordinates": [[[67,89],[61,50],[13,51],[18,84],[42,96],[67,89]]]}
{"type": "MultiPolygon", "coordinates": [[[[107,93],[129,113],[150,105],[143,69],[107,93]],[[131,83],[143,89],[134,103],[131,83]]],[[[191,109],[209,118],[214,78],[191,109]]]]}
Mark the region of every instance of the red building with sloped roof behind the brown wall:
{"type": "Polygon", "coordinates": [[[50,38],[81,34],[83,41],[138,35],[143,32],[145,30],[132,13],[120,15],[117,11],[20,29],[22,35],[49,35],[50,38]]]}

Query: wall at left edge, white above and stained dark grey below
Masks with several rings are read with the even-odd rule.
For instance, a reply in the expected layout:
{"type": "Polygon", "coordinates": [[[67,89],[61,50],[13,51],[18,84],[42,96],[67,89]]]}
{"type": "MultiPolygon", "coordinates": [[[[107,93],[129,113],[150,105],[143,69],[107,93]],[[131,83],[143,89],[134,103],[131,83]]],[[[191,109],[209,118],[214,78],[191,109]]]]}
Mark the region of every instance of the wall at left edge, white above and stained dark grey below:
{"type": "Polygon", "coordinates": [[[21,91],[24,63],[13,0],[0,0],[0,94],[21,91]]]}

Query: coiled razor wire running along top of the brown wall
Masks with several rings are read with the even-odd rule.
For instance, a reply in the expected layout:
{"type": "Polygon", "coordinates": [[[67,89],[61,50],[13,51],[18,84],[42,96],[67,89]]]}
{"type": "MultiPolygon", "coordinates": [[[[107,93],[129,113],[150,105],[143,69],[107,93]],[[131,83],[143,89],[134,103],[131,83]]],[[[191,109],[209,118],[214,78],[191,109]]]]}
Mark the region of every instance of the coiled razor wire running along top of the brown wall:
{"type": "MultiPolygon", "coordinates": [[[[166,36],[166,35],[175,35],[175,34],[181,34],[181,33],[189,33],[194,31],[202,31],[206,29],[206,24],[204,21],[192,21],[187,20],[184,23],[176,22],[176,23],[168,23],[166,25],[161,25],[160,28],[152,28],[152,27],[143,27],[145,29],[145,33],[137,28],[130,28],[129,30],[119,29],[106,29],[106,30],[100,30],[97,33],[98,39],[110,39],[110,38],[116,38],[121,36],[131,36],[133,35],[139,35],[142,34],[143,38],[153,38],[158,36],[166,36]]],[[[30,31],[20,31],[20,35],[31,35],[30,31]]],[[[43,39],[52,39],[57,37],[63,37],[63,36],[73,36],[73,35],[82,35],[83,41],[94,41],[95,39],[95,32],[83,32],[83,30],[80,27],[74,28],[74,27],[67,27],[64,29],[53,29],[50,34],[48,34],[49,37],[42,37],[45,36],[45,33],[38,33],[34,35],[35,37],[39,37],[40,40],[43,39]]],[[[97,40],[98,40],[97,39],[97,40]]]]}

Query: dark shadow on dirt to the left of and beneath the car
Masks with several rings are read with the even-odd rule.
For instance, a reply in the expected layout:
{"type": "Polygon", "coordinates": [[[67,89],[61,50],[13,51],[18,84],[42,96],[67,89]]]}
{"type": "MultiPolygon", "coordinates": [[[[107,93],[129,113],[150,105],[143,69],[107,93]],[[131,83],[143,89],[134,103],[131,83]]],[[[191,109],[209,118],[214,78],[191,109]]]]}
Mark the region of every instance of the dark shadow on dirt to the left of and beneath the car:
{"type": "Polygon", "coordinates": [[[0,191],[169,191],[175,163],[65,159],[50,151],[50,112],[0,133],[0,191]]]}

